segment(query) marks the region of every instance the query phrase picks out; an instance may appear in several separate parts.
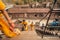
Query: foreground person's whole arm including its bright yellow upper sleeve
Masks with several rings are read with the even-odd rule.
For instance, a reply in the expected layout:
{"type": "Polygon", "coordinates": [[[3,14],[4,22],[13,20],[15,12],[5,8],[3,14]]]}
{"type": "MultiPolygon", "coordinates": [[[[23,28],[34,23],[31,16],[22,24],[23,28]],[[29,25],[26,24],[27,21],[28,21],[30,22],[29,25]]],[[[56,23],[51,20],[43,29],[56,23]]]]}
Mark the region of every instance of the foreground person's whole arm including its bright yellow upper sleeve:
{"type": "Polygon", "coordinates": [[[5,18],[7,19],[8,23],[11,25],[11,27],[14,27],[14,24],[12,23],[10,17],[8,16],[8,13],[5,11],[6,5],[3,3],[2,0],[0,0],[0,11],[2,14],[4,14],[5,18]]]}

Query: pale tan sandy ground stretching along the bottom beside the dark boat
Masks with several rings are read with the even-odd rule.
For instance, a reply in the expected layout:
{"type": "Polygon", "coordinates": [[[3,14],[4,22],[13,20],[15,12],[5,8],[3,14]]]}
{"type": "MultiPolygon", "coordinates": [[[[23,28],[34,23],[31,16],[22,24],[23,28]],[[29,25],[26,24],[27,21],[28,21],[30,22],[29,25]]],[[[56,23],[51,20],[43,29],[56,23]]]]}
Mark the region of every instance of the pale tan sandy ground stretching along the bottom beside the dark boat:
{"type": "Polygon", "coordinates": [[[49,37],[49,36],[41,38],[36,34],[35,31],[22,31],[20,35],[14,38],[3,37],[0,40],[60,40],[60,39],[58,37],[49,37]]]}

